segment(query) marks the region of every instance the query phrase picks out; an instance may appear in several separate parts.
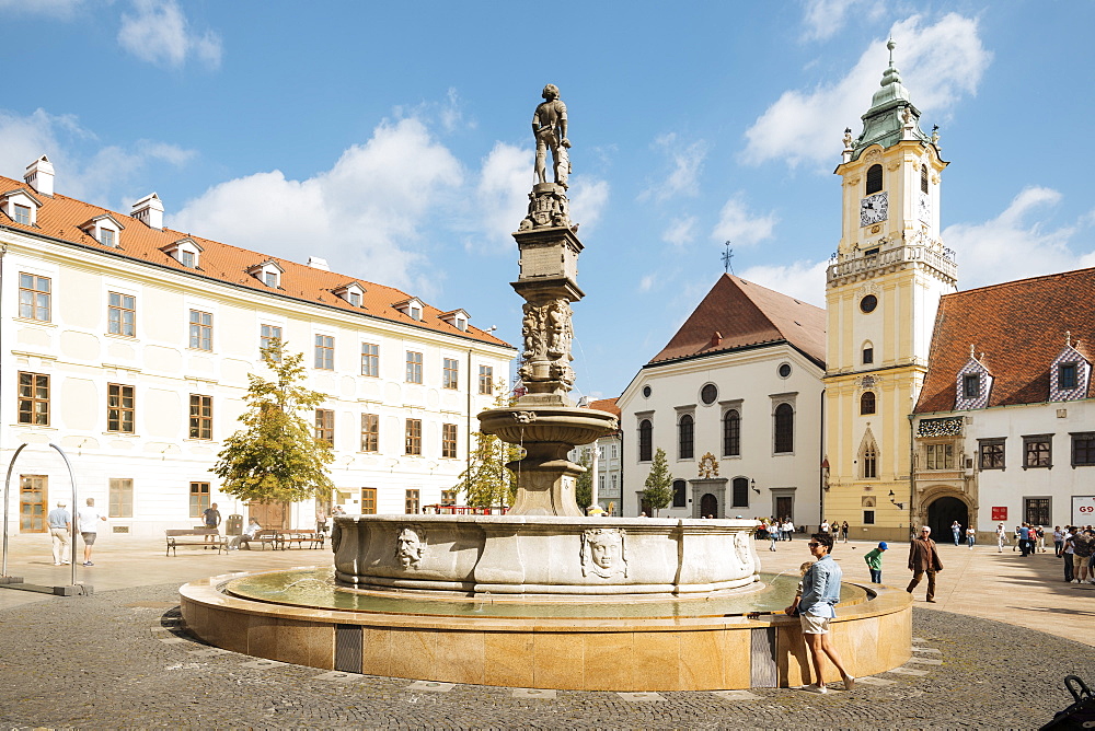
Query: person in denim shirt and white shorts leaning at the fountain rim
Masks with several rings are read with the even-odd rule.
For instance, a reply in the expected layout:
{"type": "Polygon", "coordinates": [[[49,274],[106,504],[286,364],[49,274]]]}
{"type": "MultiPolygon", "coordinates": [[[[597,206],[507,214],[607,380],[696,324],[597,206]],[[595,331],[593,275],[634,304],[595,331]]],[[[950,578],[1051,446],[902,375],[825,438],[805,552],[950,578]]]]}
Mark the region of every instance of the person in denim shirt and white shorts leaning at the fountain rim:
{"type": "Polygon", "coordinates": [[[832,550],[832,538],[831,533],[815,533],[811,536],[807,546],[810,549],[810,555],[817,560],[803,577],[802,600],[798,601],[797,605],[784,610],[788,615],[794,613],[796,606],[798,610],[803,639],[810,650],[814,665],[814,682],[802,688],[809,693],[829,692],[825,684],[825,658],[829,658],[829,661],[837,668],[841,680],[844,681],[845,691],[855,687],[855,677],[844,669],[840,653],[829,640],[829,622],[837,616],[833,606],[840,601],[842,578],[840,566],[829,556],[829,552],[832,550]]]}

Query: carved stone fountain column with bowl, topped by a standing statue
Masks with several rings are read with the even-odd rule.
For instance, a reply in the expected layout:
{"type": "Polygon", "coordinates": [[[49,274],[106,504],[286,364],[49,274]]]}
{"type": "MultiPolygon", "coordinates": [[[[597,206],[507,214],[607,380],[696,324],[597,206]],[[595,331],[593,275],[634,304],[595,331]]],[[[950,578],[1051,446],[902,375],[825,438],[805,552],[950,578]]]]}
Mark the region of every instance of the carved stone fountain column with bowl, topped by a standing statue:
{"type": "Polygon", "coordinates": [[[580,517],[574,488],[585,467],[566,459],[576,444],[588,444],[616,429],[607,411],[576,408],[567,396],[574,386],[570,304],[578,288],[578,227],[570,223],[566,198],[570,161],[566,106],[553,84],[544,88],[532,129],[537,138],[538,183],[529,194],[529,212],[514,234],[520,274],[511,286],[525,299],[523,350],[518,374],[527,388],[515,406],[480,414],[481,430],[526,450],[508,466],[517,474],[511,515],[580,517]],[[546,152],[552,152],[554,181],[546,181],[546,152]]]}

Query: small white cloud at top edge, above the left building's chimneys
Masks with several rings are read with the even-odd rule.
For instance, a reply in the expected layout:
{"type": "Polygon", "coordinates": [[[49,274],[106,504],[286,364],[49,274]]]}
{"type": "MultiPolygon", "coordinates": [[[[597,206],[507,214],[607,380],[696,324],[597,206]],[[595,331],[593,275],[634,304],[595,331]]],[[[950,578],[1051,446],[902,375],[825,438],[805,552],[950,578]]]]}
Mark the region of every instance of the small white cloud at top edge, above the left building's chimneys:
{"type": "Polygon", "coordinates": [[[210,69],[220,66],[220,36],[192,32],[175,0],[134,0],[134,14],[122,14],[118,43],[137,58],[178,68],[188,57],[210,69]]]}

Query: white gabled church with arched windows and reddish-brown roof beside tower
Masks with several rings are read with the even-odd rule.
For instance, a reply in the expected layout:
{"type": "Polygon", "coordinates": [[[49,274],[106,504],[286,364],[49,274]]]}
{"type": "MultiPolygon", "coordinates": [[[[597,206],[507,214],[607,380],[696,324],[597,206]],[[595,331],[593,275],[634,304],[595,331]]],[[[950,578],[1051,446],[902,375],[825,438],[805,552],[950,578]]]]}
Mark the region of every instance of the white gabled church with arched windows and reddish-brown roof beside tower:
{"type": "Polygon", "coordinates": [[[820,523],[825,312],[725,275],[620,396],[624,514],[665,450],[659,517],[820,523]]]}

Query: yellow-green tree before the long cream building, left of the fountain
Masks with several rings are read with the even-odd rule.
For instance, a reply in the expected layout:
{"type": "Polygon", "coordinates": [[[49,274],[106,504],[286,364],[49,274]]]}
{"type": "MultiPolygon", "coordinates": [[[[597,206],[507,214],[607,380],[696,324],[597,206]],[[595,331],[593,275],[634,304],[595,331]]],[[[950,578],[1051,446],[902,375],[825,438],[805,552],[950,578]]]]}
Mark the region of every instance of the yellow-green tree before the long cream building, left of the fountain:
{"type": "Polygon", "coordinates": [[[214,466],[223,480],[221,491],[268,503],[325,498],[334,488],[326,471],[334,454],[300,415],[325,396],[301,385],[303,353],[287,355],[283,344],[273,340],[262,356],[274,378],[247,374],[247,410],[240,416],[244,428],[226,440],[214,466]]]}

